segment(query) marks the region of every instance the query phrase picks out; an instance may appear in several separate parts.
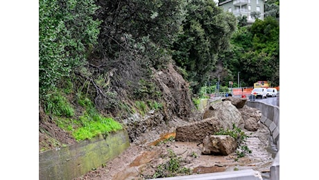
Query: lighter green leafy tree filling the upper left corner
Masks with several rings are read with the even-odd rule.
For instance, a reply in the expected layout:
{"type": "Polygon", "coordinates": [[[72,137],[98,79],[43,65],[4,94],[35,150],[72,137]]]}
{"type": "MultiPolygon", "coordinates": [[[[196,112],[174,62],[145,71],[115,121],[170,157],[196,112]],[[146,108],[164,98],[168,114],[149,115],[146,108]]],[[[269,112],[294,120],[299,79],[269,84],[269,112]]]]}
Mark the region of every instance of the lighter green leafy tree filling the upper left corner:
{"type": "Polygon", "coordinates": [[[85,62],[96,44],[98,20],[93,0],[39,1],[39,96],[50,96],[58,82],[85,62]]]}

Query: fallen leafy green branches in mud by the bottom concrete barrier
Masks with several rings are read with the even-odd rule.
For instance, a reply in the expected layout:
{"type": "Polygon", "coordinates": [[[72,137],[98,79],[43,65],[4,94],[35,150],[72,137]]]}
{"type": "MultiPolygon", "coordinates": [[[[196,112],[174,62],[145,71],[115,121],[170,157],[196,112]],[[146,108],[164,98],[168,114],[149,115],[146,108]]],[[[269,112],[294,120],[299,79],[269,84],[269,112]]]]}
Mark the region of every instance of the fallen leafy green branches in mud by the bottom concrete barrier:
{"type": "Polygon", "coordinates": [[[153,174],[153,178],[161,177],[175,177],[178,174],[189,175],[191,174],[191,169],[182,167],[184,160],[180,156],[176,156],[173,150],[168,149],[169,161],[157,165],[156,172],[153,174]]]}

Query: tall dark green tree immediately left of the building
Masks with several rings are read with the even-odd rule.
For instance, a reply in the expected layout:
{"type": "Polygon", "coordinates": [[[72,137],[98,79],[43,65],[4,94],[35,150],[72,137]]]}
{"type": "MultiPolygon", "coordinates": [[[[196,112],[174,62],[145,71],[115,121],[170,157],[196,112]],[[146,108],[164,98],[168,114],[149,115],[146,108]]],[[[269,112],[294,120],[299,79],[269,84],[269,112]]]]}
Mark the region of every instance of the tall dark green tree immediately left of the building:
{"type": "Polygon", "coordinates": [[[205,83],[214,69],[218,51],[228,48],[236,28],[236,18],[216,6],[214,1],[195,0],[187,5],[182,32],[172,46],[173,60],[187,71],[193,93],[205,83]]]}

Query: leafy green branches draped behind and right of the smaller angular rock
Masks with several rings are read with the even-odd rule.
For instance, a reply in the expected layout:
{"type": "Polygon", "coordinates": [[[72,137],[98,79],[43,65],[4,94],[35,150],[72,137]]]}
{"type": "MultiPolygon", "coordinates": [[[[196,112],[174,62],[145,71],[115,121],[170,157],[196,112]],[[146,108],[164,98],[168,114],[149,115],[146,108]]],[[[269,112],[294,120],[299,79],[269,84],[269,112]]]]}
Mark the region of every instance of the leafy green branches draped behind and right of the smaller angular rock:
{"type": "Polygon", "coordinates": [[[218,132],[215,133],[216,135],[228,135],[232,136],[237,141],[237,150],[236,154],[239,158],[245,156],[245,154],[251,154],[252,150],[249,149],[245,142],[248,136],[243,132],[239,127],[233,124],[233,129],[220,129],[218,132]]]}

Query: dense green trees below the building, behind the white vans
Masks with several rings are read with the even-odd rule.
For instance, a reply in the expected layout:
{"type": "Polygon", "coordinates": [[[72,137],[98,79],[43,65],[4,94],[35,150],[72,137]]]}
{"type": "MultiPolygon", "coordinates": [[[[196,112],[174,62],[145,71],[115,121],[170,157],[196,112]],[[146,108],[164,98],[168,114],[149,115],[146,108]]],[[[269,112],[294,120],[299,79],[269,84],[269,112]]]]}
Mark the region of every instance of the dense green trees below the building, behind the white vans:
{"type": "Polygon", "coordinates": [[[248,84],[269,80],[279,85],[279,23],[274,17],[256,19],[251,26],[239,27],[232,35],[230,49],[218,56],[232,72],[241,71],[248,84]]]}

